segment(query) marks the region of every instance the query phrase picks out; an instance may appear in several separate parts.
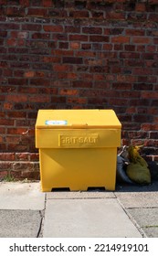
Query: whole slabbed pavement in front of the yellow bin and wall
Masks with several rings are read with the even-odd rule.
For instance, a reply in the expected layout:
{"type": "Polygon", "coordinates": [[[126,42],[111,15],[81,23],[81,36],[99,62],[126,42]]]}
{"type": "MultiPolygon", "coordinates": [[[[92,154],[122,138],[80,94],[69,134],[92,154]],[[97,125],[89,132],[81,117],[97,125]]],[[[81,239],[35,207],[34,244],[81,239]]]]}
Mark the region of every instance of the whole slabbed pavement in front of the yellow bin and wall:
{"type": "Polygon", "coordinates": [[[158,181],[77,192],[0,182],[0,227],[0,238],[158,238],[158,181]]]}

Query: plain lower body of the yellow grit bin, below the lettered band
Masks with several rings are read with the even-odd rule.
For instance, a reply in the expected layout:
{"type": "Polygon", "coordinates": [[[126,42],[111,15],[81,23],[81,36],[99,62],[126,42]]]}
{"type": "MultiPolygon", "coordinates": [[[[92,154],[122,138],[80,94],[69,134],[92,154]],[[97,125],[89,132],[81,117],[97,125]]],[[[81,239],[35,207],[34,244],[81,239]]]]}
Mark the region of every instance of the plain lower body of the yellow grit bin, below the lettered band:
{"type": "Polygon", "coordinates": [[[39,149],[39,157],[43,192],[62,187],[115,190],[117,148],[39,149]]]}

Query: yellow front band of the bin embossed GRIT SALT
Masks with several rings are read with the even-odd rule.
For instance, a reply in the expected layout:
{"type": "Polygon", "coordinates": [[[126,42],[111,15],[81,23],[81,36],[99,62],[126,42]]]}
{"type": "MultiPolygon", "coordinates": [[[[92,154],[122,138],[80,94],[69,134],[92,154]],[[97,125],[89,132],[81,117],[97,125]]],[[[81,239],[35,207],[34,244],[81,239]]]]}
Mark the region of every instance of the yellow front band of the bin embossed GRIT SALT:
{"type": "Polygon", "coordinates": [[[100,148],[121,144],[120,129],[37,129],[37,148],[100,148]]]}

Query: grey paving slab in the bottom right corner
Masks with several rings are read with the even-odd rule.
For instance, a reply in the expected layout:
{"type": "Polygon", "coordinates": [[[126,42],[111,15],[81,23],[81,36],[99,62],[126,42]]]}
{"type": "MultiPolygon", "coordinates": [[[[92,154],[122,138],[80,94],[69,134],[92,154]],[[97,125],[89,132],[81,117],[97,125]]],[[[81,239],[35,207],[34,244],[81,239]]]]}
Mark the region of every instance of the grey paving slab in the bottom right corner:
{"type": "Polygon", "coordinates": [[[147,237],[158,238],[158,208],[128,209],[147,237]]]}

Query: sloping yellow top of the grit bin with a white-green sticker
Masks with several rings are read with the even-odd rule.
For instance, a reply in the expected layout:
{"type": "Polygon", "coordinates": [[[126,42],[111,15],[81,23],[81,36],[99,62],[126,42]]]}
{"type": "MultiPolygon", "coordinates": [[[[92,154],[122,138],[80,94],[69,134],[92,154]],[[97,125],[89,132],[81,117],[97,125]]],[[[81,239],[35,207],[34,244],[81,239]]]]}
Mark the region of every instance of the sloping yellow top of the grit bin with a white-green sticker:
{"type": "Polygon", "coordinates": [[[113,110],[39,110],[36,128],[121,128],[121,123],[113,110]]]}

